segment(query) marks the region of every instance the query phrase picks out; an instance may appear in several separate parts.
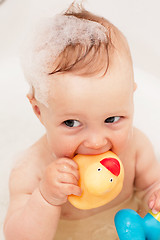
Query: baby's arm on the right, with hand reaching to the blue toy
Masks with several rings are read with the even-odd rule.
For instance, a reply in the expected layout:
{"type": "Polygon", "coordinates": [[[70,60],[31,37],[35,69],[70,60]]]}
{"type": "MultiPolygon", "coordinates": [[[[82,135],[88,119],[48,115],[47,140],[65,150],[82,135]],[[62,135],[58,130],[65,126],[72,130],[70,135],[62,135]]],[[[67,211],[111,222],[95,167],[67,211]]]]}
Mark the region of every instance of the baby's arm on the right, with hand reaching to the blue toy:
{"type": "Polygon", "coordinates": [[[153,212],[160,211],[160,163],[155,157],[152,144],[136,130],[136,176],[135,187],[145,190],[145,200],[153,212]]]}

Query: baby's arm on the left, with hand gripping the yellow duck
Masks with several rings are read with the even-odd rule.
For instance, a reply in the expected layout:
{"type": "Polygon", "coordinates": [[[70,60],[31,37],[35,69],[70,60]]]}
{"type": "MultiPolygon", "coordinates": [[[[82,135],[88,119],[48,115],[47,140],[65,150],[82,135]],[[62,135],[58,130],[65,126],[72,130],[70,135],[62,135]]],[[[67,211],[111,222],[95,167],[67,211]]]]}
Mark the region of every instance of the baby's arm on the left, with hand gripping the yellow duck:
{"type": "Polygon", "coordinates": [[[5,221],[6,240],[51,240],[67,195],[80,194],[78,171],[71,159],[58,159],[39,172],[26,164],[10,177],[10,206],[5,221]],[[36,177],[35,177],[36,176],[36,177]]]}

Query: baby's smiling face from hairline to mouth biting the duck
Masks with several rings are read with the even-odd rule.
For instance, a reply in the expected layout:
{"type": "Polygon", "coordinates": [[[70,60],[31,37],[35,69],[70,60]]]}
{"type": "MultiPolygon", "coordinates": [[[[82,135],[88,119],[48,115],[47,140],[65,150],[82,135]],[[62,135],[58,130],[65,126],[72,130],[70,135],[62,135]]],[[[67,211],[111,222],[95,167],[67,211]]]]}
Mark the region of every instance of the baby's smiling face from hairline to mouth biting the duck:
{"type": "Polygon", "coordinates": [[[57,157],[124,151],[132,136],[134,92],[127,57],[115,58],[104,77],[56,76],[51,89],[41,118],[57,157]]]}

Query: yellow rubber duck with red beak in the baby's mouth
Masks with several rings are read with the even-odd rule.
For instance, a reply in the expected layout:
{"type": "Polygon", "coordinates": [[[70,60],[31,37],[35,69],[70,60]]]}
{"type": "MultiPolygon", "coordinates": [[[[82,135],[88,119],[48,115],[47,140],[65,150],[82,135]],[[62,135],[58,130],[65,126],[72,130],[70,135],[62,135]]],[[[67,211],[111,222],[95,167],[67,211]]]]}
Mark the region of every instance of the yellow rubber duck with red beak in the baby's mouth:
{"type": "Polygon", "coordinates": [[[111,151],[100,155],[76,155],[80,172],[81,196],[70,195],[68,200],[79,209],[100,207],[113,200],[122,190],[124,168],[111,151]]]}

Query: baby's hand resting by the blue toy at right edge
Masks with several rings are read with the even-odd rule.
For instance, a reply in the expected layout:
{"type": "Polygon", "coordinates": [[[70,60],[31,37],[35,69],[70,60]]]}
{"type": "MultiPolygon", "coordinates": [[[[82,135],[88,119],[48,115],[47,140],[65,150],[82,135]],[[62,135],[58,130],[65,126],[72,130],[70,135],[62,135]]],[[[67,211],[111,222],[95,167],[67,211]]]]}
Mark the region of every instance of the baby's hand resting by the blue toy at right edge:
{"type": "Polygon", "coordinates": [[[152,193],[148,200],[148,206],[154,214],[160,212],[160,189],[152,193]]]}

